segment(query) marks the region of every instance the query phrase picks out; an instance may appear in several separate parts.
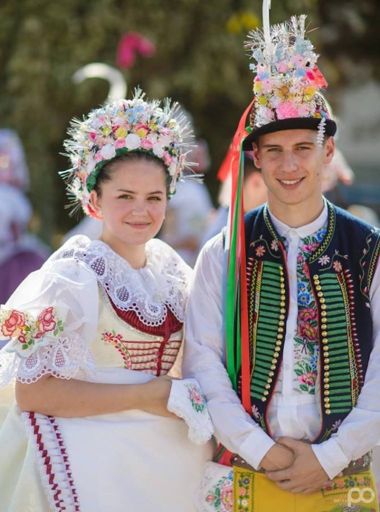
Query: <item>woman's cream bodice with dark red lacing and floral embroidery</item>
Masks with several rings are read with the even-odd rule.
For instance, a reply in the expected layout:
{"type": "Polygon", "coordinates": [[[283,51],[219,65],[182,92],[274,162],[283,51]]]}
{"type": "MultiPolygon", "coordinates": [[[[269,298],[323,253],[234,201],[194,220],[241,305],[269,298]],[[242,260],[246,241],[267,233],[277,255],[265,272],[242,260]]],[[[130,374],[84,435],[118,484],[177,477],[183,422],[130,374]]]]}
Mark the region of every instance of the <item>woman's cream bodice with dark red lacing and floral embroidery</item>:
{"type": "Polygon", "coordinates": [[[147,326],[134,311],[115,306],[99,286],[99,322],[90,350],[97,367],[164,375],[180,349],[182,325],[168,310],[161,325],[147,326]]]}

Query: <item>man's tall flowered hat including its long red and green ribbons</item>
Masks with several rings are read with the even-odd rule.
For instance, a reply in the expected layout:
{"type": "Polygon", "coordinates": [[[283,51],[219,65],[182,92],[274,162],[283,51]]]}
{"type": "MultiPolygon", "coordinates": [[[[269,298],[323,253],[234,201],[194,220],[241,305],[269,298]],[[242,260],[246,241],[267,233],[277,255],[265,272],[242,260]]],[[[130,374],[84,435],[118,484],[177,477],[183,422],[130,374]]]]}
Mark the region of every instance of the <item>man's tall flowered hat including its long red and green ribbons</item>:
{"type": "Polygon", "coordinates": [[[241,382],[242,403],[251,414],[250,345],[247,310],[245,226],[243,208],[243,151],[252,149],[257,137],[281,130],[318,131],[316,142],[335,134],[323,98],[327,82],[316,66],[318,55],[305,38],[306,16],[269,26],[270,0],[263,2],[263,31],[249,34],[245,47],[256,64],[254,98],[244,111],[224,166],[231,172],[231,201],[225,239],[227,265],[224,286],[226,368],[235,390],[241,382]],[[249,125],[247,126],[247,118],[249,125]]]}

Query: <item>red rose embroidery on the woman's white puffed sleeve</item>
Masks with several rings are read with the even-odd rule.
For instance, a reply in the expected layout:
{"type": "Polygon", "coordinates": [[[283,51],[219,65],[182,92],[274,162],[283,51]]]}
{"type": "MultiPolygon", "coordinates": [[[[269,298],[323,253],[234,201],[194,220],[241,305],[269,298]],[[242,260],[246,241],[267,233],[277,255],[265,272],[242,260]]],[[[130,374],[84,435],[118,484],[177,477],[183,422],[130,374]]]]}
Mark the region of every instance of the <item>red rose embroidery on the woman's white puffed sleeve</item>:
{"type": "Polygon", "coordinates": [[[9,350],[20,355],[25,352],[25,357],[28,357],[34,352],[35,345],[46,345],[44,338],[48,333],[56,337],[64,327],[50,306],[41,311],[36,320],[27,312],[3,309],[0,311],[0,329],[6,338],[13,340],[9,350]]]}

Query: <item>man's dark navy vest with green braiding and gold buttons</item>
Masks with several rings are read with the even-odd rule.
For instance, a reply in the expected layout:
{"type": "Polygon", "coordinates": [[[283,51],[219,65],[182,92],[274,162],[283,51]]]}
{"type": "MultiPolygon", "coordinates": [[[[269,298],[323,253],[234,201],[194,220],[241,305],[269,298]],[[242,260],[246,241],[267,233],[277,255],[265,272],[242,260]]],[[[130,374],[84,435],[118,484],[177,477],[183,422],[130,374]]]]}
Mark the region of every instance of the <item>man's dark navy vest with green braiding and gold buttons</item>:
{"type": "MultiPolygon", "coordinates": [[[[282,361],[289,310],[286,251],[266,206],[245,216],[252,417],[270,435],[267,409],[282,361]]],[[[355,406],[372,349],[369,289],[380,232],[328,203],[324,240],[306,261],[318,314],[316,399],[327,439],[355,406]]]]}

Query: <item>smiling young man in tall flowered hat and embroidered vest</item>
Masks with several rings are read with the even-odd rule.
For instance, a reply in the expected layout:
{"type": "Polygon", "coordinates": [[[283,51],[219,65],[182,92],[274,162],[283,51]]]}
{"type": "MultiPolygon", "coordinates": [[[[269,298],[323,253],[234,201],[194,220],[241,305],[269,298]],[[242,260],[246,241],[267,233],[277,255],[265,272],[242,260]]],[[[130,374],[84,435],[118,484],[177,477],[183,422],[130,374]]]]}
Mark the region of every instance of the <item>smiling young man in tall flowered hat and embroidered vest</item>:
{"type": "Polygon", "coordinates": [[[221,442],[202,512],[378,510],[379,232],[322,196],[336,125],[304,26],[250,34],[255,97],[235,144],[253,148],[268,203],[242,221],[236,169],[230,228],[195,269],[184,370],[221,442]]]}

